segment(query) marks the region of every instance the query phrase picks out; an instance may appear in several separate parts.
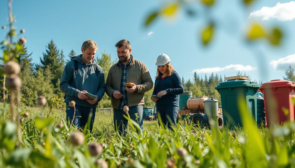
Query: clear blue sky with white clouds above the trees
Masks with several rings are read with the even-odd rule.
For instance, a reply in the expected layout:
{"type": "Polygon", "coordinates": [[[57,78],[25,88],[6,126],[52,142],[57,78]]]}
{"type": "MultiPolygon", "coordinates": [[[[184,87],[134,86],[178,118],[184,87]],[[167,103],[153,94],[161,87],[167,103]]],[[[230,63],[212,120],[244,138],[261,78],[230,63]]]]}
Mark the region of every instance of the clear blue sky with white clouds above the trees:
{"type": "MultiPolygon", "coordinates": [[[[242,0],[216,0],[211,9],[199,1],[186,1],[191,4],[181,6],[173,19],[161,16],[147,28],[143,24],[148,14],[170,1],[14,0],[12,10],[15,26],[26,31],[22,36],[27,37],[26,46],[36,63],[51,39],[65,55],[71,49],[80,53],[83,41],[92,39],[99,46],[96,56],[106,51],[116,61],[114,44],[127,39],[131,54],[148,66],[151,76],[156,75],[155,61],[161,53],[170,56],[171,64],[186,80],[194,71],[203,77],[211,72],[223,77],[235,76],[240,70],[252,80],[266,82],[282,79],[289,64],[295,68],[294,1],[257,0],[245,7],[242,0]],[[186,14],[188,7],[196,16],[186,14]],[[216,29],[210,44],[203,46],[200,31],[208,20],[215,22],[216,29]],[[253,22],[266,30],[279,26],[284,32],[281,46],[265,40],[247,43],[245,32],[253,22]]],[[[8,24],[7,10],[7,1],[0,1],[0,25],[8,24]]],[[[0,39],[7,31],[0,30],[0,39]]]]}

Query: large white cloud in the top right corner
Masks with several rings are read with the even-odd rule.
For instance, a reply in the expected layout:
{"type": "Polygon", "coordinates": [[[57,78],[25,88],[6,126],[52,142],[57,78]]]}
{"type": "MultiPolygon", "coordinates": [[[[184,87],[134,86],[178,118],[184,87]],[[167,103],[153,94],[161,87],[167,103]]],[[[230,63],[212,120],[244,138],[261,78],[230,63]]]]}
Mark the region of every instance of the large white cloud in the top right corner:
{"type": "Polygon", "coordinates": [[[261,9],[251,12],[249,18],[251,17],[262,17],[262,20],[278,19],[280,21],[291,21],[295,19],[295,1],[282,4],[278,2],[273,7],[263,6],[261,9]]]}

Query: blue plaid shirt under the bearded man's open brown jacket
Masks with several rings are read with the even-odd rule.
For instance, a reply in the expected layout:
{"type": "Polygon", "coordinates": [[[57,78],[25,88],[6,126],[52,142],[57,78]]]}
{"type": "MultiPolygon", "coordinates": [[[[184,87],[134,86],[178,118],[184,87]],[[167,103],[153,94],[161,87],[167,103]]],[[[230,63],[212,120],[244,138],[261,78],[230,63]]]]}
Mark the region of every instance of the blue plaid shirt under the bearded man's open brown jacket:
{"type": "Polygon", "coordinates": [[[132,60],[132,56],[130,55],[130,60],[128,62],[128,64],[124,65],[120,60],[118,62],[118,64],[122,67],[122,78],[121,78],[121,92],[123,94],[123,97],[120,99],[120,106],[119,106],[119,109],[123,109],[123,107],[125,105],[128,105],[128,100],[127,100],[127,91],[125,89],[125,83],[127,83],[127,80],[126,80],[126,72],[127,72],[127,68],[129,67],[130,65],[130,62],[132,60]]]}

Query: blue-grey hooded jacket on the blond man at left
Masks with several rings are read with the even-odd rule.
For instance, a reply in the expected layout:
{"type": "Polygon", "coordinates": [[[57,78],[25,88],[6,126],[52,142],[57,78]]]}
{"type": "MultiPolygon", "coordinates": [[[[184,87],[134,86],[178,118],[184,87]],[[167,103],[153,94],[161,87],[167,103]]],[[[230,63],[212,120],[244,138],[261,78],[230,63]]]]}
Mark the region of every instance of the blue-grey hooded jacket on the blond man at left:
{"type": "Polygon", "coordinates": [[[65,93],[65,102],[75,101],[76,104],[85,107],[96,107],[98,102],[104,96],[105,92],[105,81],[104,71],[96,64],[93,59],[88,65],[83,63],[82,54],[71,57],[65,65],[63,70],[63,76],[60,80],[60,90],[65,93]],[[74,71],[74,60],[78,61],[78,71],[74,71]],[[94,66],[98,66],[99,73],[95,73],[94,66]],[[88,93],[94,94],[98,97],[98,102],[95,104],[89,104],[86,100],[81,100],[77,97],[78,92],[86,90],[88,93]]]}

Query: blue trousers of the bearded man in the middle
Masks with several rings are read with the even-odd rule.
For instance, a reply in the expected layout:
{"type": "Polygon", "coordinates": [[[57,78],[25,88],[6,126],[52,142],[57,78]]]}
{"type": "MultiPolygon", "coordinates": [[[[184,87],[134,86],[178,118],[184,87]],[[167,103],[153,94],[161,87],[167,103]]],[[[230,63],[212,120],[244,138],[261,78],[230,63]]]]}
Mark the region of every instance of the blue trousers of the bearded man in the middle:
{"type": "MultiPolygon", "coordinates": [[[[142,120],[142,114],[143,114],[143,106],[142,105],[138,105],[138,106],[133,106],[133,107],[129,107],[129,115],[130,115],[130,118],[134,121],[136,121],[141,130],[143,130],[143,127],[142,127],[142,123],[143,123],[143,120],[142,120]]],[[[114,127],[115,127],[115,131],[119,131],[119,134],[122,136],[125,135],[125,132],[126,132],[126,128],[127,128],[127,125],[128,125],[128,120],[124,118],[123,115],[126,115],[127,114],[123,111],[123,110],[120,110],[120,109],[114,109],[114,127]]]]}

